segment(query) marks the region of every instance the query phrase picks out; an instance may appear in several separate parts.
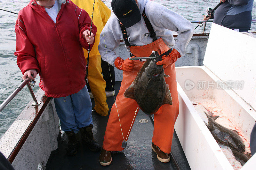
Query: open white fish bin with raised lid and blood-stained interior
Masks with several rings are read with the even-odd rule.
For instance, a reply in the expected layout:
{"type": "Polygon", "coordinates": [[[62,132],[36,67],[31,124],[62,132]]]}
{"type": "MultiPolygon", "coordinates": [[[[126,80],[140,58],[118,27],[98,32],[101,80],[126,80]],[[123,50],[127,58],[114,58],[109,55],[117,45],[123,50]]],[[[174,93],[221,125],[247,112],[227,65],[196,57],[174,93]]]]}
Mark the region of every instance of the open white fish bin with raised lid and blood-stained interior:
{"type": "Polygon", "coordinates": [[[255,169],[256,154],[242,167],[228,160],[192,102],[216,122],[238,131],[250,152],[256,122],[256,38],[212,24],[204,66],[176,67],[180,114],[175,130],[191,169],[255,169]],[[231,163],[230,163],[231,162],[231,163]]]}

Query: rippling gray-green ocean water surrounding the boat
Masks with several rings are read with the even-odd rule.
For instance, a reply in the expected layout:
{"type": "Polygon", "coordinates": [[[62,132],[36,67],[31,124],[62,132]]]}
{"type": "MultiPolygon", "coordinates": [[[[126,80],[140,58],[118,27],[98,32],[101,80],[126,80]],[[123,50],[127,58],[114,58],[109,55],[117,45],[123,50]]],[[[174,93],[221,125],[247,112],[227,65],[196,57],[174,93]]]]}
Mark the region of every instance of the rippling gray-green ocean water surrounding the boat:
{"type": "MultiPolygon", "coordinates": [[[[214,8],[219,1],[209,0],[154,0],[155,2],[166,6],[187,18],[189,21],[202,20],[207,7],[214,8]]],[[[111,0],[103,0],[111,9],[111,0]]],[[[1,9],[18,13],[29,3],[29,0],[1,0],[1,9]]],[[[88,4],[92,5],[92,4],[88,4]]],[[[156,9],[157,10],[157,9],[156,9]]],[[[36,17],[36,16],[34,16],[36,17]]],[[[252,18],[256,19],[256,2],[254,1],[252,9],[252,18]]],[[[17,15],[5,11],[0,11],[0,104],[20,85],[22,74],[16,64],[15,52],[15,21],[17,15]]],[[[194,24],[197,26],[197,24],[194,24]]],[[[205,32],[209,32],[211,24],[206,25],[205,32]]],[[[252,21],[251,30],[256,30],[256,21],[252,21]]],[[[203,27],[196,28],[195,32],[200,33],[203,27]]],[[[35,35],[36,36],[36,35],[35,35]]],[[[39,76],[36,77],[36,86],[33,91],[36,93],[39,89],[39,76]]],[[[25,86],[18,95],[0,112],[0,137],[11,126],[20,112],[31,100],[31,96],[25,86]]]]}

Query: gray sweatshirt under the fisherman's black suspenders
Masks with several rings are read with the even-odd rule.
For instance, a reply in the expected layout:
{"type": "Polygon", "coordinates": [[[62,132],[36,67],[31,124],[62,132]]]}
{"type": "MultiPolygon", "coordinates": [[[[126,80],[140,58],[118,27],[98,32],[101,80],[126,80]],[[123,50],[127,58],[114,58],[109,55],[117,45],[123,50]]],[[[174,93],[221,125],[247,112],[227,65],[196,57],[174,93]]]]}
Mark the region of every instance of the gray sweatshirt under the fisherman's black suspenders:
{"type": "MultiPolygon", "coordinates": [[[[138,0],[140,13],[144,8],[156,37],[164,40],[169,48],[175,48],[180,55],[185,54],[186,46],[190,41],[194,26],[181,15],[169,10],[161,4],[149,0],[138,0]],[[172,31],[177,32],[177,40],[174,41],[172,31]]],[[[128,39],[132,45],[142,46],[152,42],[145,21],[141,20],[133,26],[126,28],[128,39]],[[149,34],[149,35],[148,35],[149,34]],[[148,35],[148,36],[147,36],[148,35]]],[[[116,55],[115,49],[119,46],[123,34],[115,14],[111,15],[100,33],[100,44],[98,46],[102,59],[114,66],[115,59],[120,57],[116,55]]],[[[129,47],[126,47],[130,51],[129,47]]]]}

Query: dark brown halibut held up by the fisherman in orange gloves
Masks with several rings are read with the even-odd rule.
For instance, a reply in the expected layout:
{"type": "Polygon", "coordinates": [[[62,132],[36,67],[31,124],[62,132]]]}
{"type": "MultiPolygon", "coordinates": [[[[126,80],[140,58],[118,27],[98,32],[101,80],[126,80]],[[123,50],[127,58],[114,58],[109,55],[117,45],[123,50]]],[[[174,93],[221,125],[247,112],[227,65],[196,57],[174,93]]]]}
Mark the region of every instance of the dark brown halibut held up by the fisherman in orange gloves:
{"type": "Polygon", "coordinates": [[[152,115],[164,104],[172,105],[169,86],[164,78],[163,65],[156,65],[162,58],[158,52],[152,51],[140,68],[132,84],[125,90],[124,97],[135,100],[139,108],[147,115],[152,115]]]}

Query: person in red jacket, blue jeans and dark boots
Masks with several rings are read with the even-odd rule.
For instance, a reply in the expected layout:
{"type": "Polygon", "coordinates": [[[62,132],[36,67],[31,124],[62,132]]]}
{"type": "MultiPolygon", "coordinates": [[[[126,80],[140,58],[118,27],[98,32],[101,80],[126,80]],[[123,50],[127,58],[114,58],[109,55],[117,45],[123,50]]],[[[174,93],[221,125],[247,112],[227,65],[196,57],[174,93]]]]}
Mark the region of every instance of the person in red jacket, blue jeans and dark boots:
{"type": "Polygon", "coordinates": [[[88,13],[71,1],[31,0],[15,25],[17,64],[23,79],[40,76],[39,86],[54,98],[61,129],[68,135],[67,154],[77,152],[77,133],[92,151],[92,103],[85,86],[83,48],[94,44],[97,28],[88,13]]]}

